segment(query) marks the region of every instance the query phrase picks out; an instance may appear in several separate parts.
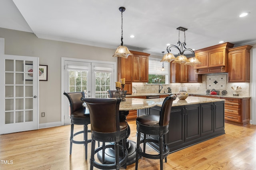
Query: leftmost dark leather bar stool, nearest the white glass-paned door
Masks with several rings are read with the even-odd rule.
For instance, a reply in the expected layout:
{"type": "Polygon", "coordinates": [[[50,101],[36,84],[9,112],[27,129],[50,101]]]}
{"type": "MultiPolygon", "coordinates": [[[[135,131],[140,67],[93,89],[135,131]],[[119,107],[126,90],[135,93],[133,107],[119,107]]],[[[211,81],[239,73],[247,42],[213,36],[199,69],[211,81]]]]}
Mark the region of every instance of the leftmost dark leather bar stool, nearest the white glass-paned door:
{"type": "Polygon", "coordinates": [[[70,118],[71,118],[71,131],[70,131],[70,154],[72,153],[72,144],[84,144],[85,146],[85,159],[87,159],[87,145],[92,140],[88,139],[88,124],[90,124],[90,114],[86,112],[85,107],[82,106],[83,102],[81,98],[84,98],[84,92],[64,92],[70,103],[70,118]],[[76,132],[74,134],[74,125],[84,125],[84,130],[76,132]],[[76,135],[84,134],[83,141],[76,141],[74,137],[76,135]]]}

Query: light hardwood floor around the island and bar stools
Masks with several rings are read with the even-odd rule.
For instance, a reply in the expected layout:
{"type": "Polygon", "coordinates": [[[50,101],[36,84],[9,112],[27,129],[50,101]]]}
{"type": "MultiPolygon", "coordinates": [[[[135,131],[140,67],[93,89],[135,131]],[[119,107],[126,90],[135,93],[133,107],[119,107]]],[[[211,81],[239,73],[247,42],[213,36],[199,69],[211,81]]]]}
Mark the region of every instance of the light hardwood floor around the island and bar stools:
{"type": "MultiPolygon", "coordinates": [[[[136,123],[128,123],[131,128],[129,139],[136,141],[136,123]]],[[[82,126],[75,126],[75,130],[80,128],[82,126]]],[[[224,135],[169,154],[164,169],[256,170],[256,125],[242,127],[225,123],[225,131],[224,135]]],[[[87,161],[83,145],[73,144],[72,155],[69,155],[69,137],[70,125],[0,135],[0,169],[90,169],[90,149],[87,161]]],[[[135,169],[135,164],[127,169],[135,169]]],[[[141,158],[138,169],[158,170],[159,160],[141,158]]]]}

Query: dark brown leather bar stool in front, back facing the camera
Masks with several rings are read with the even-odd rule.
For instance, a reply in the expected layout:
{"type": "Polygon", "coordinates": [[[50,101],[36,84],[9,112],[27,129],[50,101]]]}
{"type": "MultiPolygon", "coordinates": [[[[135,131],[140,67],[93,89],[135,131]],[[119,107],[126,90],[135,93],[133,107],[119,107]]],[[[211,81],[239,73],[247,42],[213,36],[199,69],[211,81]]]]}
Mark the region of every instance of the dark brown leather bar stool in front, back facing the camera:
{"type": "Polygon", "coordinates": [[[126,136],[128,123],[126,120],[119,121],[119,105],[121,99],[82,98],[86,103],[91,118],[92,148],[90,158],[90,170],[93,167],[99,169],[126,168],[128,151],[126,149],[126,136]],[[102,146],[95,149],[95,142],[102,142],[102,146]],[[122,145],[119,142],[122,141],[122,145]],[[114,145],[113,145],[114,143],[114,145]],[[115,152],[114,162],[105,162],[105,149],[113,149],[115,152]],[[120,149],[122,156],[119,155],[120,149]],[[94,155],[102,151],[102,162],[95,160],[94,155]]]}

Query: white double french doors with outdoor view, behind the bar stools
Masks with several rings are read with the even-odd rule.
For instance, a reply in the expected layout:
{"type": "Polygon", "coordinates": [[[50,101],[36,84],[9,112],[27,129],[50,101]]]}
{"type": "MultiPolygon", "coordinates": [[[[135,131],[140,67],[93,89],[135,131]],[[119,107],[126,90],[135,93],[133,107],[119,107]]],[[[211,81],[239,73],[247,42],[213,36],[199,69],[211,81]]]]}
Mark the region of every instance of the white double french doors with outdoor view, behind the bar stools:
{"type": "MultiPolygon", "coordinates": [[[[84,91],[87,98],[108,98],[114,87],[114,63],[64,60],[64,92],[84,91]]],[[[62,96],[63,97],[63,96],[62,96]]],[[[70,124],[68,99],[64,98],[64,124],[70,124]]]]}

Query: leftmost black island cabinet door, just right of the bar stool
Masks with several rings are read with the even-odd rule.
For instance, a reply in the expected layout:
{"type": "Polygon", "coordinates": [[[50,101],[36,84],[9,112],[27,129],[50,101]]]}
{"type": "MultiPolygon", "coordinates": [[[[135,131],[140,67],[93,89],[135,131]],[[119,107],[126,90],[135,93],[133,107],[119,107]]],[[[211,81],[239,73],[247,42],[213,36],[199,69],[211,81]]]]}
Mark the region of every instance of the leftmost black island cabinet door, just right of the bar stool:
{"type": "MultiPolygon", "coordinates": [[[[167,143],[170,148],[184,143],[184,106],[172,107],[167,143]]],[[[170,149],[171,150],[171,149],[170,149]]]]}

